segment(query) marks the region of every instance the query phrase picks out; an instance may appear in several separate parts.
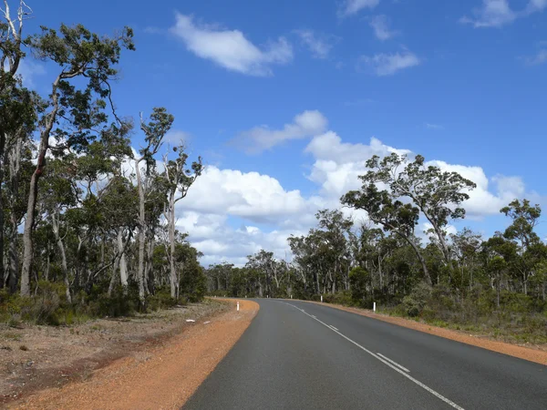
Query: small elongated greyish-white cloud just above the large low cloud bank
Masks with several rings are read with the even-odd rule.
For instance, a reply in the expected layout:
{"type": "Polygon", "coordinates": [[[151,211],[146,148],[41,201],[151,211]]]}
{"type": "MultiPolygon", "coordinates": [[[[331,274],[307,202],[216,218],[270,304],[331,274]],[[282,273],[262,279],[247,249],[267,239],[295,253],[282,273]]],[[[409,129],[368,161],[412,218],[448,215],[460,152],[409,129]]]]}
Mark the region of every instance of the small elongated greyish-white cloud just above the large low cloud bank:
{"type": "Polygon", "coordinates": [[[259,153],[272,149],[290,139],[313,137],[325,132],[328,121],[319,111],[304,111],[294,117],[283,129],[271,129],[265,126],[243,131],[232,142],[248,153],[259,153]]]}

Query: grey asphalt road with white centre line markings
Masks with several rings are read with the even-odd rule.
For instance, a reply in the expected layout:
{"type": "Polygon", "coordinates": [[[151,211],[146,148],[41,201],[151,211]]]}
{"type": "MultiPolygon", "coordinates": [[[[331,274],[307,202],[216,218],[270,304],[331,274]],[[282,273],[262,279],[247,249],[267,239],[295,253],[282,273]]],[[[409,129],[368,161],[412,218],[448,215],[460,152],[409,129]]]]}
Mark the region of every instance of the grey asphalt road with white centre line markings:
{"type": "Polygon", "coordinates": [[[314,303],[260,311],[184,409],[542,409],[547,366],[314,303]]]}

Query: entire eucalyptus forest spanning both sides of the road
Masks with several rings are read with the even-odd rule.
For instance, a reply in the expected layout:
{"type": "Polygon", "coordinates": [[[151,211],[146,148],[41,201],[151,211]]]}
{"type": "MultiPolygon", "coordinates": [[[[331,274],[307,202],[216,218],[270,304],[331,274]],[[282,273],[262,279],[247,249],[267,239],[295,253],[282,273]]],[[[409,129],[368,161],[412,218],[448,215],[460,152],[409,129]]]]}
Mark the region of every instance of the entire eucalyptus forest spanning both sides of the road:
{"type": "MultiPolygon", "coordinates": [[[[205,294],[298,298],[437,323],[502,323],[547,342],[547,248],[541,208],[515,199],[490,238],[463,228],[475,184],[421,156],[366,161],[361,188],[319,210],[291,255],[249,255],[207,268],[177,230],[177,206],[203,171],[185,141],[165,137],[168,108],[120,113],[112,83],[133,31],[85,26],[26,35],[32,10],[4,2],[0,22],[0,320],[73,323],[199,301],[205,294]],[[55,67],[47,95],[21,62],[55,67]],[[139,150],[131,141],[144,141],[139,150]],[[365,221],[351,216],[365,211],[365,221]],[[427,232],[418,231],[427,222],[427,232]]],[[[181,205],[180,205],[181,206],[181,205]]]]}

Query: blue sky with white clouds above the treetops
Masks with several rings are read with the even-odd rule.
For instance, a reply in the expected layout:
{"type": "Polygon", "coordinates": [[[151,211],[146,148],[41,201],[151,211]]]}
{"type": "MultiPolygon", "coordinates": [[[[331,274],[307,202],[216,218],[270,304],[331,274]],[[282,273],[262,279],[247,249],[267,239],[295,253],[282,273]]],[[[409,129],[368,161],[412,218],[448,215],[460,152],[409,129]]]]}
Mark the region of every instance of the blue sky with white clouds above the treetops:
{"type": "MultiPolygon", "coordinates": [[[[123,115],[168,108],[209,165],[179,210],[205,264],[284,257],[392,149],[474,179],[463,225],[485,234],[513,197],[547,204],[547,0],[27,3],[31,31],[135,29],[114,97],[123,115]]],[[[26,72],[45,90],[55,69],[26,72]]]]}

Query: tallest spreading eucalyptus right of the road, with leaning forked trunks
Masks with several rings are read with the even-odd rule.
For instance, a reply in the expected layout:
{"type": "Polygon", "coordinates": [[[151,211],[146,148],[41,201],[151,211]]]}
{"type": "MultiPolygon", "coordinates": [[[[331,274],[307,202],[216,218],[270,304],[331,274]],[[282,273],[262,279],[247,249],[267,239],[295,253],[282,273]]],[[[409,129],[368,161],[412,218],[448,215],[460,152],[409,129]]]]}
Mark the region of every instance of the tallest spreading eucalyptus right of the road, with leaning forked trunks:
{"type": "Polygon", "coordinates": [[[343,203],[366,210],[375,223],[408,241],[422,261],[426,281],[430,284],[426,264],[414,240],[414,227],[421,213],[431,224],[443,259],[451,270],[445,228],[449,220],[465,217],[461,203],[469,200],[468,192],[476,184],[457,172],[427,165],[421,155],[413,161],[395,152],[384,159],[375,155],[366,161],[366,167],[369,170],[359,177],[363,181],[361,191],[347,193],[343,203]],[[385,189],[379,190],[378,186],[385,189]]]}

